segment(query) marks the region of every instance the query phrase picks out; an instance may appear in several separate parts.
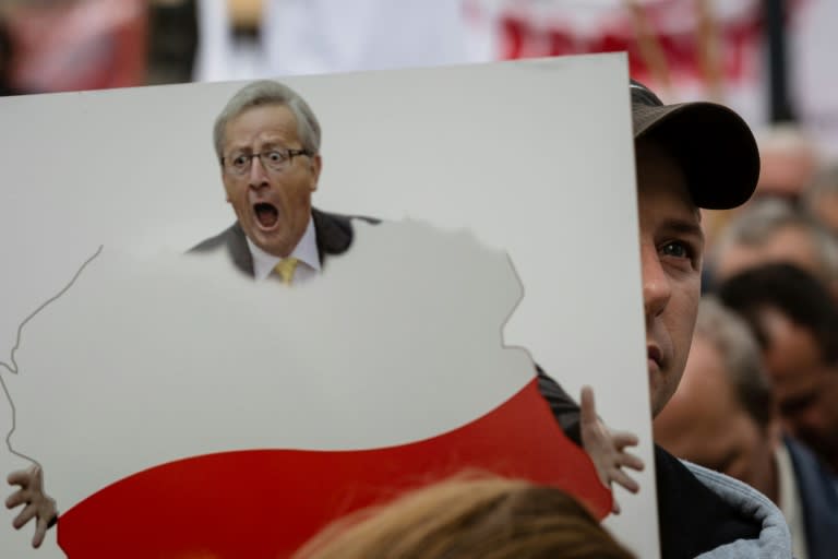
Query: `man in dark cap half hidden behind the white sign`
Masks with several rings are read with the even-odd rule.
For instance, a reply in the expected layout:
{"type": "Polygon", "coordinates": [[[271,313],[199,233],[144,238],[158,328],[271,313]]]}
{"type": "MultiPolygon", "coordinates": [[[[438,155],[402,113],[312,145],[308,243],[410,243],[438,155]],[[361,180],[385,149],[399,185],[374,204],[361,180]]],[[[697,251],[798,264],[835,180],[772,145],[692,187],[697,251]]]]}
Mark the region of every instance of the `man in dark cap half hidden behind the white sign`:
{"type": "MultiPolygon", "coordinates": [[[[654,417],[675,392],[692,342],[704,252],[699,207],[744,203],[756,188],[759,154],[747,124],[726,107],[663,105],[637,82],[631,95],[654,417]]],[[[566,394],[543,377],[541,384],[566,424],[572,416],[566,394]]],[[[582,418],[584,426],[584,406],[582,418]]],[[[763,495],[658,447],[655,466],[665,559],[791,557],[788,526],[763,495]]]]}

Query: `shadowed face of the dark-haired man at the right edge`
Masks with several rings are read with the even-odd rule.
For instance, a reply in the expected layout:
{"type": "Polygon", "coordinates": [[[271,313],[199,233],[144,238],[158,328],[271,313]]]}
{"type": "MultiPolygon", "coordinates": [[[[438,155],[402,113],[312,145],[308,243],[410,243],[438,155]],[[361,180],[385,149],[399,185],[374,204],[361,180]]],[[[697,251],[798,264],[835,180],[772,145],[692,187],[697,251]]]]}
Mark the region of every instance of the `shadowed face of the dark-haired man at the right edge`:
{"type": "Polygon", "coordinates": [[[807,329],[776,309],[759,316],[768,338],[764,362],[789,431],[815,451],[838,460],[838,365],[824,362],[807,329]]]}

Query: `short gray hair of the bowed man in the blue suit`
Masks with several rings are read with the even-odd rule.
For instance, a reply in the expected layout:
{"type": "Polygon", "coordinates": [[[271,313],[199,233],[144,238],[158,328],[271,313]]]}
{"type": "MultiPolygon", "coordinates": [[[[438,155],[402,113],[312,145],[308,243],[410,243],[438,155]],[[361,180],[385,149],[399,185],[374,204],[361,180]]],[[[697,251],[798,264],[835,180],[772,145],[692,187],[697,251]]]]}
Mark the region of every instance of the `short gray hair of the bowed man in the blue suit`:
{"type": "Polygon", "coordinates": [[[749,416],[765,429],[774,416],[771,382],[763,368],[759,344],[747,323],[713,296],[698,305],[696,337],[710,343],[721,355],[726,380],[749,416]]]}

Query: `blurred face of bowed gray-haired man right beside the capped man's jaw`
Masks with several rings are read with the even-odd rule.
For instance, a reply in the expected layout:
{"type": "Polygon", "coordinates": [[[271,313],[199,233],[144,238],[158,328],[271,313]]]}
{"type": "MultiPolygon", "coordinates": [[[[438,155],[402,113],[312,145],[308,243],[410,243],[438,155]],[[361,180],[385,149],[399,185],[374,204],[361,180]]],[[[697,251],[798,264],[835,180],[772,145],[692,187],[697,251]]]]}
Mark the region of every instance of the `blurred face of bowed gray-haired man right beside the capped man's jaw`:
{"type": "Polygon", "coordinates": [[[696,335],[681,384],[655,418],[655,442],[770,496],[776,492],[773,453],[779,426],[761,428],[743,409],[726,366],[719,349],[696,335]]]}

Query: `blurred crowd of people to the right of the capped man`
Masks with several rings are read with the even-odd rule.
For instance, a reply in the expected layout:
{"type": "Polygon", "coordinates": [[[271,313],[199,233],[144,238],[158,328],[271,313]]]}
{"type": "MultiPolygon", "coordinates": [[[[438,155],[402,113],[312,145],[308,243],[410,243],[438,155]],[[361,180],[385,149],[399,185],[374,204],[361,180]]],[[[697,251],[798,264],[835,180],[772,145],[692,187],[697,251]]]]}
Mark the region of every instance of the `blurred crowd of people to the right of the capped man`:
{"type": "Polygon", "coordinates": [[[768,496],[795,557],[821,557],[838,527],[838,165],[795,128],[761,150],[754,198],[706,215],[693,346],[654,432],[768,496]]]}

